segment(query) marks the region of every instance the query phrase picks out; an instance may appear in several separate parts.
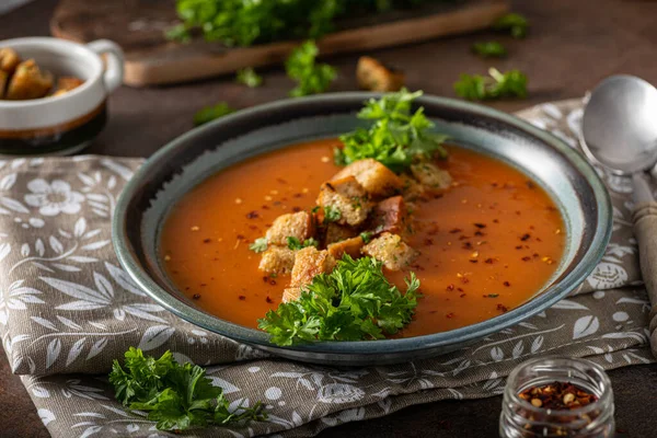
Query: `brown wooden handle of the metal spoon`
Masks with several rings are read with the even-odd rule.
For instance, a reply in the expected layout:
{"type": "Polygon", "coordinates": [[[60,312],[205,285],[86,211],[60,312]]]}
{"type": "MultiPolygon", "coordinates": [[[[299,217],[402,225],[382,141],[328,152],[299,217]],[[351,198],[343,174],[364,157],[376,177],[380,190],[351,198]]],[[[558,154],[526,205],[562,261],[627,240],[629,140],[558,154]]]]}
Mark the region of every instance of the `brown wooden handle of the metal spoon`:
{"type": "Polygon", "coordinates": [[[634,235],[638,242],[641,272],[650,301],[650,348],[657,357],[657,201],[644,203],[634,210],[634,235]]]}

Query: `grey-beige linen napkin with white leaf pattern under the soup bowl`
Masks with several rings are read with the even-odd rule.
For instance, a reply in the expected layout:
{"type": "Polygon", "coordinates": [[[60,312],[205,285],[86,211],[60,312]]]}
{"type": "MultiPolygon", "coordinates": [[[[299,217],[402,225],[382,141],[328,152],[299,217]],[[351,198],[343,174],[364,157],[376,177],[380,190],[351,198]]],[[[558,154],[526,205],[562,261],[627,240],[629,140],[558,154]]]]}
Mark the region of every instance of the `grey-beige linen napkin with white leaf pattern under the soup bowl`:
{"type": "MultiPolygon", "coordinates": [[[[577,147],[580,101],[520,113],[577,147]]],[[[110,242],[116,197],[140,160],[78,157],[0,161],[0,333],[54,437],[170,436],[125,411],[106,380],[128,346],[209,366],[233,402],[263,401],[266,423],[194,437],[307,437],[408,405],[500,394],[537,355],[587,357],[607,369],[654,361],[649,306],[632,234],[630,182],[600,171],[613,238],[575,291],[538,316],[459,351],[399,366],[335,369],[269,357],[155,306],[118,266],[110,242]]],[[[173,436],[173,435],[171,435],[173,436]]]]}

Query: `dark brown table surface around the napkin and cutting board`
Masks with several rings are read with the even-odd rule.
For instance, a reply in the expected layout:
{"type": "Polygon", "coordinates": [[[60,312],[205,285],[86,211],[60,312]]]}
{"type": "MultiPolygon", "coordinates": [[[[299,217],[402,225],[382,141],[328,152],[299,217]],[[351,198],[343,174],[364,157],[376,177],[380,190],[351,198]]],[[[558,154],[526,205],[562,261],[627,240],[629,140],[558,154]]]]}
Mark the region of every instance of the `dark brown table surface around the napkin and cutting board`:
{"type": "MultiPolygon", "coordinates": [[[[0,0],[1,1],[1,0],[0,0]]],[[[36,0],[0,16],[0,39],[48,35],[56,0],[36,0]]],[[[407,85],[426,93],[453,96],[461,72],[484,73],[492,65],[518,68],[530,79],[530,97],[493,103],[514,112],[544,101],[581,96],[607,76],[637,74],[657,83],[656,1],[637,0],[514,0],[514,8],[532,23],[531,35],[512,41],[491,33],[460,36],[378,50],[381,60],[403,68],[407,85]],[[507,44],[505,60],[481,60],[470,53],[474,42],[496,38],[507,44]]],[[[339,69],[334,91],[355,88],[357,56],[331,58],[339,69]]],[[[228,101],[247,107],[286,96],[291,82],[284,71],[264,72],[266,84],[256,90],[219,78],[177,87],[117,90],[110,99],[111,119],[88,150],[124,157],[148,157],[192,127],[201,106],[228,101]]],[[[657,436],[657,367],[610,371],[620,436],[657,436]]],[[[384,418],[354,423],[324,431],[322,437],[494,437],[500,399],[437,402],[408,407],[384,418]]],[[[36,411],[7,358],[0,355],[0,437],[47,437],[36,411]]]]}

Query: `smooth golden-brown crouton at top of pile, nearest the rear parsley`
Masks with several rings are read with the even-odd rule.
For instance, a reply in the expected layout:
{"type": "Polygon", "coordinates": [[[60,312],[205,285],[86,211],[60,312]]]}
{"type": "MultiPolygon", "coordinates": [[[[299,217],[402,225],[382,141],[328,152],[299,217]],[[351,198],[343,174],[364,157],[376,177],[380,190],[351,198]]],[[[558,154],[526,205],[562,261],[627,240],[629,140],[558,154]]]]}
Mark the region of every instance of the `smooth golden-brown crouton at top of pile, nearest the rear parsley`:
{"type": "Polygon", "coordinates": [[[333,181],[355,176],[372,198],[382,198],[399,193],[403,183],[393,171],[371,158],[358,160],[333,176],[333,181]]]}

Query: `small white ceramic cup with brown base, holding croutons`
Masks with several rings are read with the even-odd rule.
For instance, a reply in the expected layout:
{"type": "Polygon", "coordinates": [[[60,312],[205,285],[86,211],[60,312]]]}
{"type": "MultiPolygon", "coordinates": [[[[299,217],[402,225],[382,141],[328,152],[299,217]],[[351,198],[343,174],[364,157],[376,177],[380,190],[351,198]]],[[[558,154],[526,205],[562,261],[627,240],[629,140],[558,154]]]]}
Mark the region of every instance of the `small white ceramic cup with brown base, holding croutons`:
{"type": "Polygon", "coordinates": [[[55,77],[73,76],[84,83],[59,96],[0,100],[0,154],[68,154],[89,146],[105,126],[107,95],[123,82],[120,47],[107,39],[82,45],[49,37],[5,39],[3,47],[23,60],[35,59],[55,77]]]}

